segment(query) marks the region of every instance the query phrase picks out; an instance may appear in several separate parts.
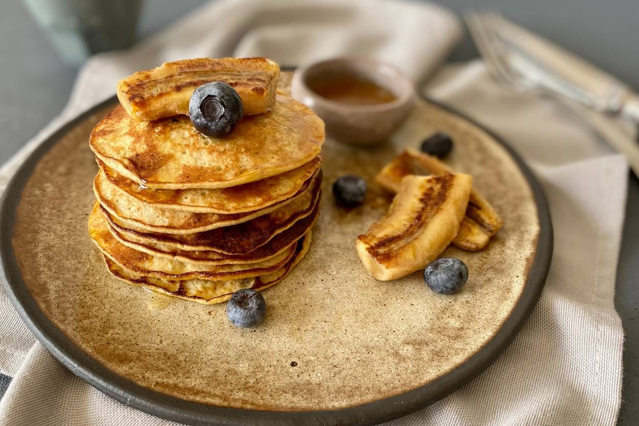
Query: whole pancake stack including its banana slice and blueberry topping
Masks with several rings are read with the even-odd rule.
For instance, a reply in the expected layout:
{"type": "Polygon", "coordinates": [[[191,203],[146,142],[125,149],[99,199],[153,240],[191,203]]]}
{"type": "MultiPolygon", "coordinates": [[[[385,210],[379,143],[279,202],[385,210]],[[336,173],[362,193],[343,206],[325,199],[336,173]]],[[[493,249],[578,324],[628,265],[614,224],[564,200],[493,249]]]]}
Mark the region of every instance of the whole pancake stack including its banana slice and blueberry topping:
{"type": "Polygon", "coordinates": [[[121,105],[89,141],[99,166],[89,233],[114,276],[212,304],[300,262],[324,125],[277,93],[279,75],[265,58],[206,58],[118,83],[121,105]]]}

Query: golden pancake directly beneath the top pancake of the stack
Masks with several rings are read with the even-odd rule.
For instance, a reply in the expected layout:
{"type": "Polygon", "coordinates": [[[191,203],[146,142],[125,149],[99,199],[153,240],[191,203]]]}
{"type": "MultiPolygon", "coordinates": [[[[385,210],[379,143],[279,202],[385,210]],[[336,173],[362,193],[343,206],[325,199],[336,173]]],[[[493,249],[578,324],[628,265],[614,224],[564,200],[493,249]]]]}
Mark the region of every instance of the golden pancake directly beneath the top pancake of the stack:
{"type": "Polygon", "coordinates": [[[249,184],[220,189],[150,189],[118,175],[97,160],[105,177],[146,204],[194,213],[235,214],[264,209],[291,198],[319,168],[319,157],[303,166],[249,184]]]}

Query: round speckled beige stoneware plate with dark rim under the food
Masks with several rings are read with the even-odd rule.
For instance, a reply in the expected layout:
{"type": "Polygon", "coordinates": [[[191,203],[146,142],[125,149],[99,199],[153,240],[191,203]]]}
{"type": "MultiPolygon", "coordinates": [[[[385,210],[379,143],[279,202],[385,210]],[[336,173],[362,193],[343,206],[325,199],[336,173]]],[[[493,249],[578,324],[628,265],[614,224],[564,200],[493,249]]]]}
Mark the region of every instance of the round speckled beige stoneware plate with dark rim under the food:
{"type": "Polygon", "coordinates": [[[327,139],[323,196],[308,255],[265,290],[265,322],[233,327],[224,304],[158,304],[113,278],[87,232],[97,171],[91,128],[111,99],[40,146],[1,210],[3,278],[22,319],[66,367],[117,400],[193,425],[367,425],[408,414],[470,381],[504,351],[543,288],[552,251],[548,206],[521,159],[494,135],[427,100],[392,141],[327,139]],[[504,226],[466,262],[461,292],[438,296],[419,272],[382,283],[355,237],[389,205],[374,175],[433,132],[456,141],[449,163],[473,175],[504,226]],[[364,205],[335,205],[331,184],[366,178],[364,205]]]}

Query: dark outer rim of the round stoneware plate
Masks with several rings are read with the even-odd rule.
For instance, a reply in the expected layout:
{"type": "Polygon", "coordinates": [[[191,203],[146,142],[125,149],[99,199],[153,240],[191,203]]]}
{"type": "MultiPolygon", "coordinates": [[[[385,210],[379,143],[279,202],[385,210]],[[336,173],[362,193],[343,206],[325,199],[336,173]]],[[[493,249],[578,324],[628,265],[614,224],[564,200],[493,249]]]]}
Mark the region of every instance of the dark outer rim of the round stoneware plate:
{"type": "Polygon", "coordinates": [[[10,179],[4,191],[0,203],[0,271],[4,285],[13,307],[25,322],[29,330],[54,358],[58,359],[73,374],[102,391],[109,397],[119,402],[144,411],[153,416],[178,423],[186,423],[193,426],[203,425],[227,425],[240,426],[247,423],[255,423],[268,426],[284,425],[374,425],[388,422],[418,409],[429,406],[450,393],[458,390],[466,383],[472,381],[486,368],[492,365],[497,358],[510,345],[514,337],[519,333],[523,324],[530,317],[530,313],[537,304],[539,296],[546,283],[548,271],[553,253],[553,226],[550,217],[550,208],[539,180],[532,173],[520,155],[500,136],[475,122],[463,113],[420,95],[422,99],[455,114],[459,118],[470,123],[477,129],[486,132],[497,143],[503,146],[506,152],[516,162],[521,173],[528,182],[537,207],[539,220],[539,235],[537,236],[537,248],[525,287],[511,310],[509,317],[484,346],[466,359],[461,365],[438,377],[434,381],[426,383],[398,395],[381,398],[372,402],[353,407],[334,410],[318,411],[266,411],[252,409],[238,409],[231,407],[210,406],[201,402],[183,400],[158,391],[144,388],[126,377],[112,372],[101,365],[96,359],[91,358],[82,349],[68,338],[61,329],[55,326],[49,318],[40,310],[35,299],[29,294],[19,265],[13,253],[12,238],[15,211],[22,196],[22,190],[38,162],[59,139],[79,122],[82,122],[91,114],[102,109],[108,104],[116,102],[115,96],[96,104],[95,106],[79,114],[73,120],[65,123],[56,132],[48,136],[27,159],[10,179]]]}

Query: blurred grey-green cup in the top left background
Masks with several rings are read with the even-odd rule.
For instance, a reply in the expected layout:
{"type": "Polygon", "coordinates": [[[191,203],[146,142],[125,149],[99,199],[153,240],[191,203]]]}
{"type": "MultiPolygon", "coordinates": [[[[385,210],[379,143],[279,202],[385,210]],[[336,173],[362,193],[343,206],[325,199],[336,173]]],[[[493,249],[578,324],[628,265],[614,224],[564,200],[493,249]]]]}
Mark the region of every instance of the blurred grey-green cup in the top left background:
{"type": "Polygon", "coordinates": [[[23,1],[68,65],[135,42],[142,0],[23,1]]]}

